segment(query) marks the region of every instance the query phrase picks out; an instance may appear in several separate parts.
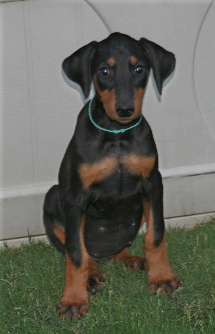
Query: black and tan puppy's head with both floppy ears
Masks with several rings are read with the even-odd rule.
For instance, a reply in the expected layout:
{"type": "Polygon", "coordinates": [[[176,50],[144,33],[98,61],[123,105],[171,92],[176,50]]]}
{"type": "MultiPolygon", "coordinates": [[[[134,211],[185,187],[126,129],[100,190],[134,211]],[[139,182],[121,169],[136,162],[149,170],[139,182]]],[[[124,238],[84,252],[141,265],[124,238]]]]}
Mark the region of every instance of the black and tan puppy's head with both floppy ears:
{"type": "Polygon", "coordinates": [[[85,98],[93,79],[106,115],[126,124],[141,115],[150,67],[161,94],[164,80],[175,68],[175,56],[146,38],[138,41],[116,32],[101,42],[84,45],[62,67],[80,85],[85,98]]]}

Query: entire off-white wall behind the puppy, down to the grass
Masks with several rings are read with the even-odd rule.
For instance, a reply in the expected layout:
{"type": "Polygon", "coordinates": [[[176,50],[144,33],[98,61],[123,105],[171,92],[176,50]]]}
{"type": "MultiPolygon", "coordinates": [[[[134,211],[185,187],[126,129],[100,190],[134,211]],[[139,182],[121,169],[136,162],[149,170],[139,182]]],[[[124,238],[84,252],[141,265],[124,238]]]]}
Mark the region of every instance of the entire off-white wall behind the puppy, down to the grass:
{"type": "Polygon", "coordinates": [[[87,2],[0,1],[0,240],[44,233],[43,197],[84,103],[61,62],[109,31],[147,37],[176,55],[162,97],[151,76],[143,108],[158,146],[167,221],[188,224],[215,211],[215,2],[87,2]]]}

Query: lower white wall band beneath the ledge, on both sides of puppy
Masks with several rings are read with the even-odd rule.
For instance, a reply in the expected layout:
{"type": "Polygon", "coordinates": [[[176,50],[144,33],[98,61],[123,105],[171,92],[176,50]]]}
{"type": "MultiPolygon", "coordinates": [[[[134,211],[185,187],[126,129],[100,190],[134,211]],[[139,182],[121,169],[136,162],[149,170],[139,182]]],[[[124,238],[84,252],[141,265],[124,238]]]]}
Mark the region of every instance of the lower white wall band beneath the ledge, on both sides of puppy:
{"type": "MultiPolygon", "coordinates": [[[[190,228],[208,216],[202,212],[215,215],[214,173],[215,164],[161,170],[166,225],[190,228]]],[[[0,190],[0,240],[43,235],[44,196],[54,183],[0,190]]]]}

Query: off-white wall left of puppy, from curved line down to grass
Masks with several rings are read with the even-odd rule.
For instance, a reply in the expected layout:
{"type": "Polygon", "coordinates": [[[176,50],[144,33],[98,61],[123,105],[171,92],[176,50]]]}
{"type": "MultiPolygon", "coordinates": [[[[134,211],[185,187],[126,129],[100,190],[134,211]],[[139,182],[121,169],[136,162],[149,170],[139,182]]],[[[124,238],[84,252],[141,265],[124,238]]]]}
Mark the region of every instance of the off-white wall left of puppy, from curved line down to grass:
{"type": "Polygon", "coordinates": [[[109,32],[84,1],[0,3],[0,240],[43,234],[42,203],[83,105],[62,60],[109,32]]]}

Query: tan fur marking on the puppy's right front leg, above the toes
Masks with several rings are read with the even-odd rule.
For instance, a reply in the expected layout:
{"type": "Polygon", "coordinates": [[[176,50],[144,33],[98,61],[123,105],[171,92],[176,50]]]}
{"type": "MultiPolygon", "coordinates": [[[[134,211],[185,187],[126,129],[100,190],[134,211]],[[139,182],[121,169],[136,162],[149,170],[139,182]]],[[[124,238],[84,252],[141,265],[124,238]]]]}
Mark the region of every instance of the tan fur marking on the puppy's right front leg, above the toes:
{"type": "Polygon", "coordinates": [[[175,277],[167,257],[165,236],[158,247],[154,246],[154,218],[149,201],[143,202],[147,231],[144,235],[144,254],[146,257],[149,285],[172,281],[175,277]]]}

